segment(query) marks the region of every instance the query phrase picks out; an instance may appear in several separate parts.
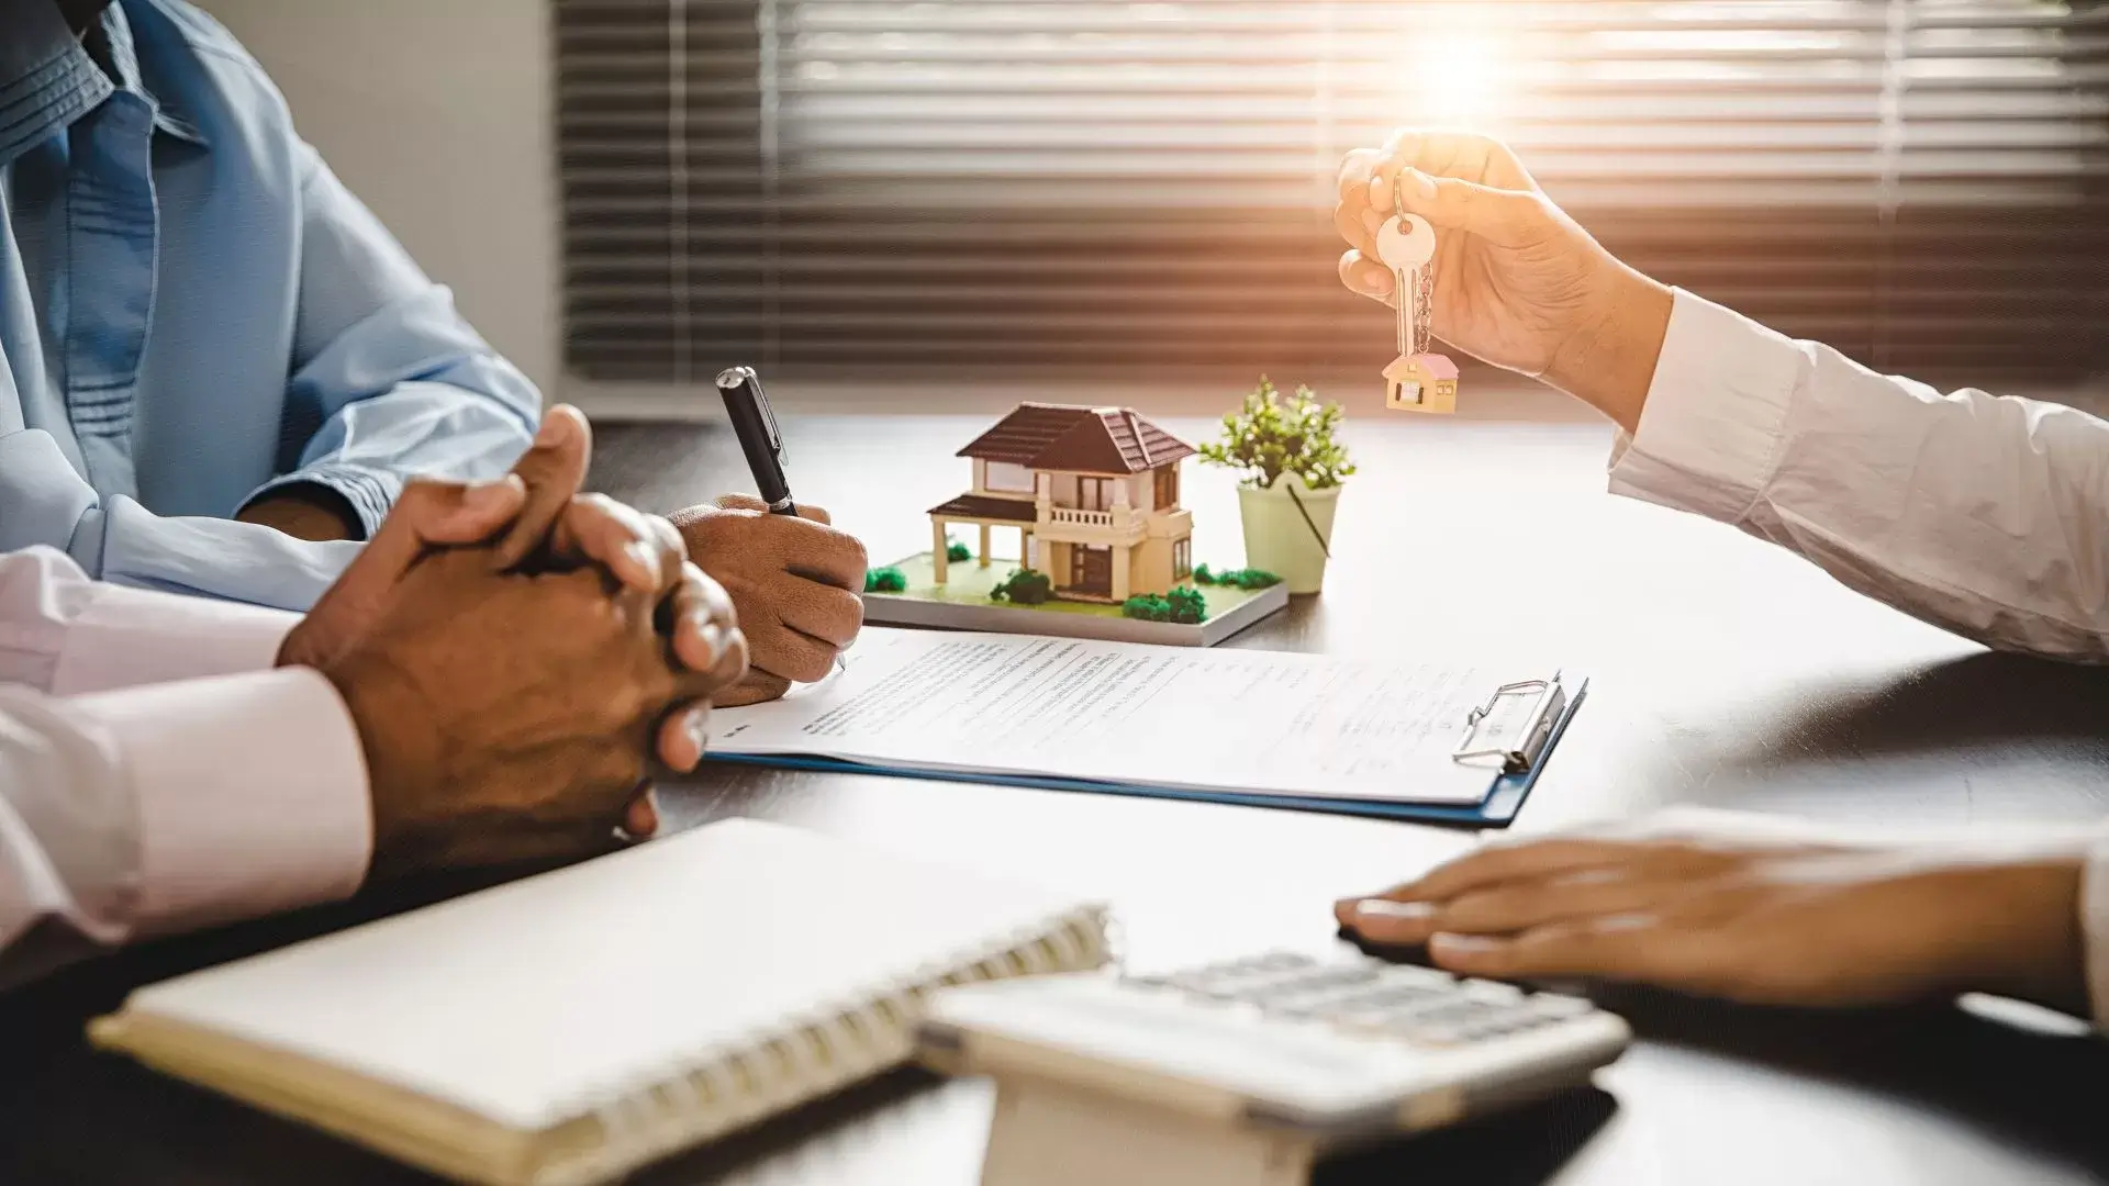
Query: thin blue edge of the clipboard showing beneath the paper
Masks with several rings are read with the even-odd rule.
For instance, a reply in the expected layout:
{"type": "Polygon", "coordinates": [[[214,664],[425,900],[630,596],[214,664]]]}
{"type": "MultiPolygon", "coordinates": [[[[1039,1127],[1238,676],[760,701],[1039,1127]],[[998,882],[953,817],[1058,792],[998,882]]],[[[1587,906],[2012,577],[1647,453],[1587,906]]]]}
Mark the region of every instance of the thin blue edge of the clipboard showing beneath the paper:
{"type": "Polygon", "coordinates": [[[1268,793],[1244,793],[1244,791],[1185,791],[1177,787],[1137,787],[1128,783],[1101,783],[1095,779],[1052,779],[1036,774],[972,774],[960,770],[915,770],[905,766],[877,766],[869,762],[846,762],[841,758],[812,758],[801,753],[711,753],[709,762],[721,762],[725,766],[763,766],[770,770],[825,770],[835,774],[882,774],[888,779],[922,779],[930,783],[981,783],[989,787],[1025,787],[1033,791],[1082,791],[1097,796],[1141,796],[1152,800],[1185,800],[1185,802],[1206,802],[1206,804],[1230,804],[1230,806],[1259,806],[1274,810],[1314,810],[1320,815],[1358,815],[1369,819],[1400,819],[1415,823],[1455,823],[1466,827],[1508,827],[1516,812],[1523,808],[1523,800],[1529,798],[1531,787],[1537,785],[1540,774],[1544,774],[1546,764],[1552,762],[1552,753],[1559,749],[1561,739],[1567,737],[1567,724],[1575,720],[1582,709],[1582,701],[1588,696],[1588,680],[1584,677],[1573,694],[1567,699],[1567,709],[1561,711],[1561,720],[1552,726],[1552,737],[1546,741],[1546,751],[1537,758],[1537,764],[1523,774],[1502,774],[1487,789],[1487,798],[1478,806],[1451,806],[1451,804],[1394,804],[1394,802],[1371,802],[1371,800],[1329,800],[1312,796],[1268,796],[1268,793]]]}

